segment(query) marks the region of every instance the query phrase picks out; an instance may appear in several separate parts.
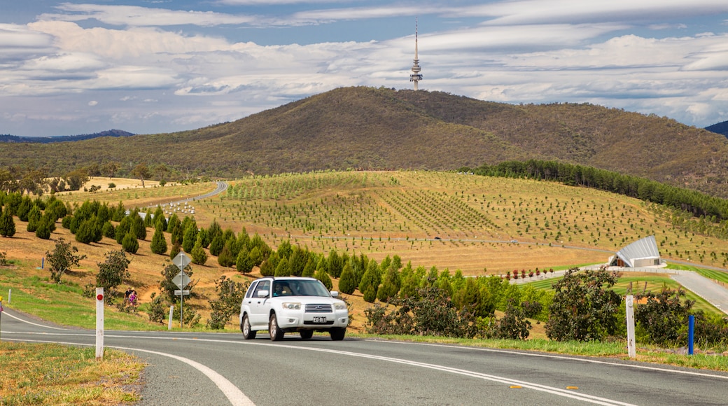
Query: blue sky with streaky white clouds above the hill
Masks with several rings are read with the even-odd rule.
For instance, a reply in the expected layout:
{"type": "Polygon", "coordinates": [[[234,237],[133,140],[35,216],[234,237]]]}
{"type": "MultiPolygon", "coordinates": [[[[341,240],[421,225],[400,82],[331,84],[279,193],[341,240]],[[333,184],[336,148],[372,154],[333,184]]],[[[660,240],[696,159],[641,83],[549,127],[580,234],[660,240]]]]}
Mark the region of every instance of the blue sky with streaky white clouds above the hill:
{"type": "Polygon", "coordinates": [[[728,120],[727,0],[0,0],[0,134],[175,132],[337,87],[728,120]]]}

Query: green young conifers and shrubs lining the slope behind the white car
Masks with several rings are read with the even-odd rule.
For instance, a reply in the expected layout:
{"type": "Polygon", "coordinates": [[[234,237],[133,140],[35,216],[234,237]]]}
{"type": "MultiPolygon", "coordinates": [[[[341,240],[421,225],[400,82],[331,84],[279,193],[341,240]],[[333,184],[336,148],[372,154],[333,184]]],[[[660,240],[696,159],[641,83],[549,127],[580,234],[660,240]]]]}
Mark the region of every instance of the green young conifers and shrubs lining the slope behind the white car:
{"type": "MultiPolygon", "coordinates": [[[[435,267],[427,270],[422,266],[414,268],[411,263],[405,266],[397,255],[387,256],[377,263],[363,253],[349,255],[331,250],[324,255],[292,245],[287,240],[281,242],[277,250],[272,250],[257,234],[251,238],[245,228],[237,235],[229,228],[223,231],[216,221],[208,228],[198,228],[191,217],[179,220],[172,215],[167,220],[160,208],[155,212],[148,210],[144,216],[140,216],[138,210],[127,215],[122,203],[109,207],[99,202],[84,202],[73,210],[73,214],[67,214],[71,210],[53,196],[41,200],[0,194],[0,199],[1,235],[5,235],[5,219],[9,217],[12,222],[12,215],[28,221],[29,227],[33,222],[42,223],[43,218],[63,218],[63,226],[69,228],[79,242],[98,242],[104,235],[122,244],[122,250],[107,252],[106,261],[98,263],[97,285],[111,292],[110,298],[114,297],[116,287],[130,277],[125,252],[136,250],[129,250],[125,241],[133,240],[138,247],[137,239],[146,239],[146,228],[154,226],[151,246],[159,255],[167,252],[164,234],[168,233],[172,244],[170,257],[184,249],[192,252],[194,263],[205,263],[205,249],[208,249],[222,266],[237,268],[242,274],[259,266],[265,276],[314,276],[329,289],[333,287],[331,278],[339,279],[342,293],[352,294],[359,290],[366,301],[375,303],[379,300],[366,311],[370,330],[374,333],[523,339],[529,335],[527,318],[545,322],[547,336],[559,341],[598,341],[624,333],[621,322],[624,306],[620,296],[612,290],[618,276],[604,270],[572,270],[555,282],[552,293],[536,290],[529,284],[519,287],[496,276],[472,278],[463,276],[460,271],[451,275],[447,269],[440,272],[435,267]],[[114,226],[112,221],[118,225],[114,226]],[[195,255],[198,251],[203,255],[195,255]],[[394,310],[387,313],[385,303],[395,305],[394,310]],[[505,315],[497,319],[495,309],[504,311],[505,315]]],[[[55,224],[55,220],[52,223],[55,224]]],[[[60,282],[71,266],[78,266],[84,255],[76,252],[76,247],[63,239],[56,242],[55,250],[47,252],[52,280],[60,282]]],[[[165,316],[162,308],[166,302],[174,303],[173,292],[177,287],[171,280],[177,271],[173,265],[167,265],[162,271],[159,288],[164,294],[153,298],[150,319],[162,321],[165,316]]],[[[191,274],[190,269],[187,271],[191,274]]],[[[218,299],[210,301],[212,313],[207,322],[210,328],[224,327],[232,319],[247,288],[224,276],[216,286],[218,299]]],[[[683,340],[685,320],[692,308],[692,302],[684,300],[684,292],[662,290],[643,296],[646,304],[636,309],[638,338],[660,345],[683,340]]],[[[638,295],[638,300],[640,298],[638,295]]],[[[199,314],[195,312],[185,316],[183,322],[186,324],[199,322],[199,314]]],[[[702,312],[697,313],[697,319],[698,341],[709,345],[728,340],[727,319],[702,312]]]]}

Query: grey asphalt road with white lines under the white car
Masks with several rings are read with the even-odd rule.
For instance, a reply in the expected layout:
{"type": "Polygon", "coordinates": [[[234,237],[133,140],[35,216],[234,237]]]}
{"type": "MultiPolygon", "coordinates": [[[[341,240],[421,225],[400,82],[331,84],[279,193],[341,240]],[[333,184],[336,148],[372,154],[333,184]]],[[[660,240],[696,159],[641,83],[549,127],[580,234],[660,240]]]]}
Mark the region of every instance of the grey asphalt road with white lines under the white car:
{"type": "MultiPolygon", "coordinates": [[[[6,308],[2,341],[93,346],[6,308]],[[30,324],[33,323],[33,324],[30,324]]],[[[106,331],[149,362],[141,405],[725,405],[728,373],[615,359],[296,334],[106,331]]]]}

